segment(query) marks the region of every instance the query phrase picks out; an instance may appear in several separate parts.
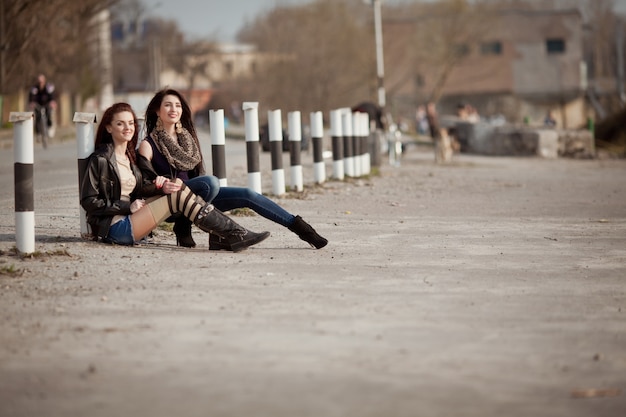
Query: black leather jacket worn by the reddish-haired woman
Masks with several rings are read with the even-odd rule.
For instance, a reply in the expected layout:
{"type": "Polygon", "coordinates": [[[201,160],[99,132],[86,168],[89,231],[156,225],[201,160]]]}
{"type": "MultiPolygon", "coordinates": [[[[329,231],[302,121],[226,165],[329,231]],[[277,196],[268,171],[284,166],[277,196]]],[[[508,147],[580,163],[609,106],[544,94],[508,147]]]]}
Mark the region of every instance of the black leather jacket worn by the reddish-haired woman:
{"type": "Polygon", "coordinates": [[[137,185],[130,201],[121,200],[120,173],[113,144],[96,149],[87,162],[87,171],[81,184],[80,204],[87,213],[87,223],[95,239],[105,238],[111,227],[113,216],[130,215],[130,204],[138,198],[164,195],[149,180],[144,180],[140,169],[131,164],[137,185]]]}

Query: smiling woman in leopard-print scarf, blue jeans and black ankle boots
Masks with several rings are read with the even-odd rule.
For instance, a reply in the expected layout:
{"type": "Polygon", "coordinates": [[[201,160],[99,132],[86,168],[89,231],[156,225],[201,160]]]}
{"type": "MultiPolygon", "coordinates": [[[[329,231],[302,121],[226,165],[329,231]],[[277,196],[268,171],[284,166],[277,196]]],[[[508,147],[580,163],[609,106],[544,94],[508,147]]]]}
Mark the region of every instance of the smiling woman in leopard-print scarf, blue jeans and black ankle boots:
{"type": "MultiPolygon", "coordinates": [[[[194,193],[221,211],[247,207],[288,228],[316,249],[326,246],[328,240],[300,216],[294,216],[249,188],[220,188],[215,176],[205,175],[191,109],[178,91],[164,89],[157,92],[148,104],[145,122],[147,137],[139,145],[139,154],[143,157],[140,157],[139,166],[146,177],[180,178],[194,193]]],[[[191,221],[186,217],[176,217],[174,233],[178,245],[196,245],[191,236],[191,221]]],[[[232,250],[227,241],[213,233],[209,237],[209,249],[232,250]]]]}

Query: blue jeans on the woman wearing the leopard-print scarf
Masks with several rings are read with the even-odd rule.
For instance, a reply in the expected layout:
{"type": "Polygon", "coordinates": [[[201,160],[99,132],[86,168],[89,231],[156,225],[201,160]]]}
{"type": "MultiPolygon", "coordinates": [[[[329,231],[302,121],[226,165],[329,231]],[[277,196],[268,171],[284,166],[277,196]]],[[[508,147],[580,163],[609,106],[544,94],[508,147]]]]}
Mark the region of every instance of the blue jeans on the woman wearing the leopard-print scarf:
{"type": "Polygon", "coordinates": [[[218,178],[212,175],[192,178],[185,184],[194,194],[202,197],[207,203],[213,203],[220,211],[247,207],[285,227],[291,226],[296,220],[293,214],[263,194],[246,187],[220,187],[218,178]]]}

